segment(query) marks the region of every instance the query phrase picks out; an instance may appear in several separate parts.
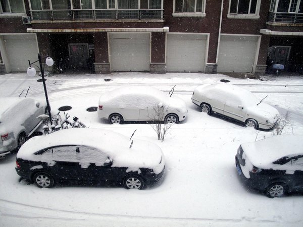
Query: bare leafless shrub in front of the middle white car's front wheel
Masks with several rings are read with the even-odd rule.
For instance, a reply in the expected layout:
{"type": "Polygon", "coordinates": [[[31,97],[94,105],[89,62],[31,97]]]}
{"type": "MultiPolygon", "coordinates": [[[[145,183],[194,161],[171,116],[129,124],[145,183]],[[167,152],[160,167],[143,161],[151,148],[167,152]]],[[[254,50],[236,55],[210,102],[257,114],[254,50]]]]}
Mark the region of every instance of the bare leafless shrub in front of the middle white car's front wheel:
{"type": "Polygon", "coordinates": [[[170,128],[173,126],[174,123],[165,123],[163,124],[163,120],[165,120],[165,113],[167,112],[167,108],[165,108],[163,105],[159,104],[153,107],[154,109],[154,115],[150,118],[152,123],[150,124],[151,128],[154,129],[154,131],[158,135],[158,140],[161,140],[161,142],[164,141],[164,137],[167,134],[167,132],[170,130],[170,128]]]}

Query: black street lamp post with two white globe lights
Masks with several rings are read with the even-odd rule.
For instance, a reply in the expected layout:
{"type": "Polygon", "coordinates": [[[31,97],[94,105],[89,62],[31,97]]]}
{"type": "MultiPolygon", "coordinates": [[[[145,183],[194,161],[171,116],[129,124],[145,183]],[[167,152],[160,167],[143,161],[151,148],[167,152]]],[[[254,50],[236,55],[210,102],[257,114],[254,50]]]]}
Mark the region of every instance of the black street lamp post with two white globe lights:
{"type": "Polygon", "coordinates": [[[45,84],[45,78],[44,78],[44,67],[42,67],[42,59],[46,59],[45,64],[47,66],[53,66],[54,65],[54,60],[49,57],[48,53],[47,53],[47,56],[45,56],[44,58],[41,58],[40,53],[38,53],[38,60],[37,61],[31,63],[28,60],[29,67],[27,69],[27,75],[29,75],[29,76],[35,76],[36,75],[36,70],[35,70],[35,68],[31,67],[31,65],[33,65],[36,62],[39,62],[40,68],[38,67],[38,69],[41,72],[44,94],[45,94],[46,105],[47,105],[47,111],[48,111],[48,116],[49,116],[49,122],[52,123],[51,106],[49,105],[49,102],[48,102],[48,96],[47,96],[47,90],[46,90],[46,84],[45,84]]]}

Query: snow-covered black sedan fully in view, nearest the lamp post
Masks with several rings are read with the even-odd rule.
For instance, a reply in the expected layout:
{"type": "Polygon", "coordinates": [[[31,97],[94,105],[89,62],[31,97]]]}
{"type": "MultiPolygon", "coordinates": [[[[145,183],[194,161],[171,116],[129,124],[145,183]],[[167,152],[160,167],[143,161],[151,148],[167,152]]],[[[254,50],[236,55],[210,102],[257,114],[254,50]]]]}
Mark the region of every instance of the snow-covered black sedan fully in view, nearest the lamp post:
{"type": "Polygon", "coordinates": [[[16,171],[40,188],[57,182],[118,182],[142,189],[163,177],[164,155],[154,143],[102,129],[73,128],[29,139],[16,171]]]}

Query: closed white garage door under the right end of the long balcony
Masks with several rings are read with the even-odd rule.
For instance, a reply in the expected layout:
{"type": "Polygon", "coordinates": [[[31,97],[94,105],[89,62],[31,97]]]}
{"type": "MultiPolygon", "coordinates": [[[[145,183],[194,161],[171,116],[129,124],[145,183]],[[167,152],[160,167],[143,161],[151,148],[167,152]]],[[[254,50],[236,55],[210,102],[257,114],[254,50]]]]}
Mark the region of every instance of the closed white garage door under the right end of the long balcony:
{"type": "Polygon", "coordinates": [[[112,71],[149,71],[149,33],[111,33],[112,71]]]}

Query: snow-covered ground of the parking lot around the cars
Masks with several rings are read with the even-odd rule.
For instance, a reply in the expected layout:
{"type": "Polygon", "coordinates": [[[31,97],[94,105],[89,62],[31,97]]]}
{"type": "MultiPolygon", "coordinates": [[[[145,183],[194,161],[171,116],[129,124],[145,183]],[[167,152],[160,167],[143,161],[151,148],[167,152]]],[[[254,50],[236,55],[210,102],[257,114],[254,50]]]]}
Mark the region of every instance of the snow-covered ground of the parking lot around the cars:
{"type": "MultiPolygon", "coordinates": [[[[26,74],[0,75],[0,97],[44,98],[43,86],[26,74]]],[[[230,120],[208,116],[191,102],[200,84],[230,80],[275,106],[291,112],[285,134],[303,135],[303,78],[267,76],[263,80],[236,79],[196,73],[115,73],[110,75],[55,75],[46,77],[52,112],[70,105],[91,128],[103,128],[158,144],[166,157],[162,184],[146,190],[123,187],[60,186],[39,189],[19,183],[16,154],[0,160],[0,226],[302,226],[303,195],[269,199],[248,191],[239,181],[234,156],[243,142],[273,136],[230,120]],[[105,81],[105,79],[112,79],[105,81]],[[99,120],[98,97],[123,85],[151,85],[182,98],[187,119],[172,127],[164,142],[148,124],[110,125],[99,120]]]]}

